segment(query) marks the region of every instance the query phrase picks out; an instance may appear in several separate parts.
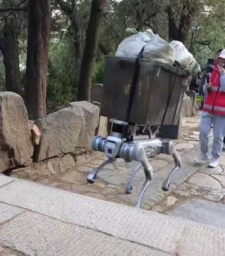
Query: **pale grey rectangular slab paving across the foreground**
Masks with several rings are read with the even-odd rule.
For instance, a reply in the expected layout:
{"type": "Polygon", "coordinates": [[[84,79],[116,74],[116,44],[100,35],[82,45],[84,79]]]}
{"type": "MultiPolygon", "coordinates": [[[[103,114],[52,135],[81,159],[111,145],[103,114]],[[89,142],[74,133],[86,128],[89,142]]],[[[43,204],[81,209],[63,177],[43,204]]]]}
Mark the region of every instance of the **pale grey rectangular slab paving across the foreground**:
{"type": "Polygon", "coordinates": [[[225,255],[225,229],[13,177],[0,182],[1,256],[225,255]]]}

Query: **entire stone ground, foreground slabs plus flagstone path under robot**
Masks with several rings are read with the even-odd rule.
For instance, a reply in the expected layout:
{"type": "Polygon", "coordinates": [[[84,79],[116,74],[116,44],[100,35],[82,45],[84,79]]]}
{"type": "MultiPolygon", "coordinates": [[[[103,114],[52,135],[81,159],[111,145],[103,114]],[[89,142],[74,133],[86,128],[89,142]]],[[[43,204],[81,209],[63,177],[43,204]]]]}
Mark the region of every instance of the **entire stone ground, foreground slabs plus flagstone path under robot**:
{"type": "MultiPolygon", "coordinates": [[[[104,161],[101,155],[38,183],[0,175],[0,256],[224,256],[225,153],[216,169],[193,165],[198,125],[199,116],[183,120],[182,137],[174,141],[183,166],[168,193],[161,184],[172,158],[150,159],[155,178],[141,210],[129,205],[143,172],[125,194],[135,162],[107,166],[92,185],[86,175],[104,161]]],[[[14,174],[32,179],[28,169],[14,174]]]]}

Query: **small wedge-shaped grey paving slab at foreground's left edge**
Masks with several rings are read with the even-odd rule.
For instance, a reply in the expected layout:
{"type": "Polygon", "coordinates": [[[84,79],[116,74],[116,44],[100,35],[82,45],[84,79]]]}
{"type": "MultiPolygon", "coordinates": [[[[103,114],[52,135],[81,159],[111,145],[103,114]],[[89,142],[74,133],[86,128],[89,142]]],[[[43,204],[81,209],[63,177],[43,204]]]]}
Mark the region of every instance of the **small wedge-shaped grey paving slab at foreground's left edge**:
{"type": "Polygon", "coordinates": [[[25,210],[0,202],[0,224],[22,214],[25,210]]]}

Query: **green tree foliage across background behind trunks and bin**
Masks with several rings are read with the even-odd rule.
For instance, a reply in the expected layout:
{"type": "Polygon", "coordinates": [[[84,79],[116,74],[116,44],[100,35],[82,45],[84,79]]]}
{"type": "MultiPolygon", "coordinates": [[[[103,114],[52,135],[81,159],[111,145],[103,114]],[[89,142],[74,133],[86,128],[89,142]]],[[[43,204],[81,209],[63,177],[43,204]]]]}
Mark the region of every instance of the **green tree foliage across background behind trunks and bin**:
{"type": "MultiPolygon", "coordinates": [[[[0,0],[0,8],[17,6],[20,2],[0,0]]],[[[67,106],[68,102],[74,101],[77,97],[80,63],[76,61],[79,58],[76,58],[74,42],[76,39],[81,51],[84,49],[92,0],[63,0],[62,2],[67,3],[71,9],[68,13],[57,2],[52,1],[48,112],[67,106]]],[[[23,6],[26,4],[24,3],[23,6]]],[[[217,49],[225,48],[225,0],[107,0],[101,27],[100,47],[93,70],[93,84],[103,83],[105,67],[103,55],[115,54],[118,44],[128,36],[126,33],[128,27],[138,31],[151,28],[154,33],[168,40],[168,8],[172,9],[173,17],[179,23],[181,13],[186,13],[188,6],[195,6],[191,27],[201,27],[201,30],[194,33],[193,54],[201,66],[208,58],[214,58],[217,49]]],[[[9,15],[8,12],[3,14],[7,17],[9,15]]],[[[14,15],[19,24],[20,71],[23,83],[27,58],[27,12],[16,12],[14,15]]],[[[0,19],[0,30],[3,22],[4,19],[0,19]]],[[[191,32],[190,30],[186,44],[188,49],[191,44],[191,32]]],[[[0,56],[0,90],[4,90],[4,84],[5,68],[0,56]]]]}

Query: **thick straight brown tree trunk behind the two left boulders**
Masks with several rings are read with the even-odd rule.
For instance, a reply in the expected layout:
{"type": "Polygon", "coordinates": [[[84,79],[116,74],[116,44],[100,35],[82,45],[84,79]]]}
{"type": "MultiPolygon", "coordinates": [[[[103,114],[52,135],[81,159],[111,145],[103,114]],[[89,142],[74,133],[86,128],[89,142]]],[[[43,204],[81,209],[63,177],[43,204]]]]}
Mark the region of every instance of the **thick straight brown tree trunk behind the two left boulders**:
{"type": "Polygon", "coordinates": [[[30,0],[25,101],[31,120],[46,115],[49,33],[50,0],[30,0]]]}

